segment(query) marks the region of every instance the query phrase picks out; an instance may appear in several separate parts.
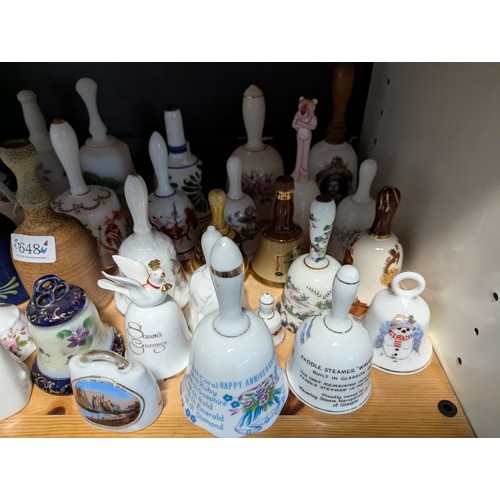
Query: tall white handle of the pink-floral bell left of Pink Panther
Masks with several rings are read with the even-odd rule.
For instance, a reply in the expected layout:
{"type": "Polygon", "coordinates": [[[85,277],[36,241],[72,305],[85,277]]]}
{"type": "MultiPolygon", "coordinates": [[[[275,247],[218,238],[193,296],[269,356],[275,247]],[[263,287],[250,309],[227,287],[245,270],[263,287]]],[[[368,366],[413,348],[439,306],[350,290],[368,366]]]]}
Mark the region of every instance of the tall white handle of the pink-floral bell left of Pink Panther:
{"type": "Polygon", "coordinates": [[[250,85],[243,94],[243,122],[247,132],[245,149],[262,151],[266,146],[262,142],[264,122],[266,119],[266,102],[264,93],[256,85],[250,85]]]}

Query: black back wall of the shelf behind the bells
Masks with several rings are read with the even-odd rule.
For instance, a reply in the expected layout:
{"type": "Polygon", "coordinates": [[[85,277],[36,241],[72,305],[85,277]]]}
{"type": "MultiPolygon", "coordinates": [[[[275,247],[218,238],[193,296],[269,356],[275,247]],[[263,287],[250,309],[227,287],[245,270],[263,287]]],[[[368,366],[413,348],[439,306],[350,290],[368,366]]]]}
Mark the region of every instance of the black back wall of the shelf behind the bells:
{"type": "MultiPolygon", "coordinates": [[[[108,134],[126,142],[135,168],[153,189],[148,142],[154,131],[166,138],[163,111],[180,108],[186,140],[203,161],[202,186],[226,186],[226,162],[244,144],[242,94],[251,84],[266,102],[264,136],[282,156],[285,173],[295,166],[296,132],[292,120],[300,96],[318,99],[318,126],[311,145],[324,139],[332,114],[331,82],[336,63],[0,63],[0,140],[27,138],[20,90],[37,95],[47,127],[55,118],[69,122],[80,146],[89,137],[88,113],[75,90],[82,77],[98,85],[97,106],[108,134]]],[[[346,109],[346,140],[357,148],[372,63],[355,63],[351,98],[346,109]]],[[[1,164],[14,182],[10,171],[1,164]]]]}

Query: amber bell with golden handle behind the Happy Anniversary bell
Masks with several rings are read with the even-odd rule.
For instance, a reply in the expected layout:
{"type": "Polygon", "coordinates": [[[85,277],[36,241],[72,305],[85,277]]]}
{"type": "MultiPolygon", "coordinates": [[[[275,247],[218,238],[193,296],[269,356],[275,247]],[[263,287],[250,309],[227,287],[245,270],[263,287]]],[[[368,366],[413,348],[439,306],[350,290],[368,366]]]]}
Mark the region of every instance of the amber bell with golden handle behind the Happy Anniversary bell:
{"type": "MultiPolygon", "coordinates": [[[[243,251],[243,245],[241,243],[240,235],[228,225],[226,220],[224,219],[224,208],[226,206],[226,193],[222,189],[212,189],[208,193],[208,203],[210,204],[210,209],[212,212],[212,220],[210,221],[209,226],[214,226],[217,231],[222,236],[227,236],[229,239],[233,240],[240,249],[243,255],[243,263],[245,266],[245,271],[248,270],[248,260],[243,251]]],[[[206,229],[205,229],[206,231],[206,229]]],[[[188,262],[188,270],[190,273],[193,273],[199,267],[205,264],[205,256],[203,255],[203,248],[201,246],[201,237],[204,232],[200,234],[196,246],[194,249],[193,256],[188,262]]]]}

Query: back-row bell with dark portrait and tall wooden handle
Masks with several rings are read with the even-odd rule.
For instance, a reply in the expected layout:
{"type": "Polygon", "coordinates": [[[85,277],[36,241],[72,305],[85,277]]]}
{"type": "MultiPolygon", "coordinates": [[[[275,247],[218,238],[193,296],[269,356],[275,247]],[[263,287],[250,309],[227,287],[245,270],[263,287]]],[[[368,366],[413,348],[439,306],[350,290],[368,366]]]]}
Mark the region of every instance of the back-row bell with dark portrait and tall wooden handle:
{"type": "Polygon", "coordinates": [[[351,96],[354,65],[337,63],[332,79],[332,118],[325,139],[317,142],[309,154],[309,173],[320,191],[328,193],[338,204],[357,187],[358,159],[354,148],[345,140],[345,109],[351,96]]]}

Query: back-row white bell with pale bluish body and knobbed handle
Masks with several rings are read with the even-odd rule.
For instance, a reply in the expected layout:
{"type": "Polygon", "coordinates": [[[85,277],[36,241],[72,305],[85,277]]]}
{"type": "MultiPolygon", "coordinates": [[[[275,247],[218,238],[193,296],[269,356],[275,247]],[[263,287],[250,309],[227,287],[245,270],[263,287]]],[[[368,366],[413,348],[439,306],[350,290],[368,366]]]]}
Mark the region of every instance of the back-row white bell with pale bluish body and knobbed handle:
{"type": "Polygon", "coordinates": [[[107,186],[119,194],[129,174],[135,173],[128,145],[107,133],[97,107],[97,83],[80,78],[75,85],[89,114],[90,137],[80,148],[80,164],[85,181],[107,186]]]}

